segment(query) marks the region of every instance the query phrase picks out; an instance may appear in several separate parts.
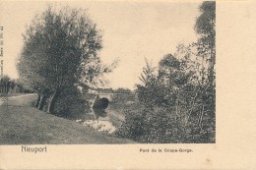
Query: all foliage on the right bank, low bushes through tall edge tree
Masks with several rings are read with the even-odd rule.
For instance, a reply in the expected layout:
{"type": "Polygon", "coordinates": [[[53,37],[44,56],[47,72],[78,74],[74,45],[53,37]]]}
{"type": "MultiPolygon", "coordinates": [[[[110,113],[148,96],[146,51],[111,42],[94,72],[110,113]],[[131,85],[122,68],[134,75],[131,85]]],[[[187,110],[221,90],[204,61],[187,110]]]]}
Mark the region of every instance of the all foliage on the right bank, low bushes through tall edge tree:
{"type": "Polygon", "coordinates": [[[138,142],[215,142],[215,2],[203,2],[195,29],[200,37],[160,60],[146,60],[137,85],[143,111],[126,114],[117,132],[138,142]]]}

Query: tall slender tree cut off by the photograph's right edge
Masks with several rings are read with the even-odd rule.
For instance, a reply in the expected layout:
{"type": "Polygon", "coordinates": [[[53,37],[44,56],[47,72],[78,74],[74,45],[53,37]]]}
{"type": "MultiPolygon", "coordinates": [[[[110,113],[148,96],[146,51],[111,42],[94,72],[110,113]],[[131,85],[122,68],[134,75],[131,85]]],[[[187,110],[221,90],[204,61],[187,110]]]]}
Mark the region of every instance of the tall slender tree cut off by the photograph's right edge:
{"type": "Polygon", "coordinates": [[[197,55],[202,58],[201,93],[203,106],[209,110],[212,119],[215,119],[216,103],[216,2],[205,1],[199,7],[201,15],[196,20],[195,30],[200,37],[195,43],[197,55]],[[204,74],[206,73],[206,74],[204,74]],[[203,84],[205,80],[206,84],[203,84]]]}

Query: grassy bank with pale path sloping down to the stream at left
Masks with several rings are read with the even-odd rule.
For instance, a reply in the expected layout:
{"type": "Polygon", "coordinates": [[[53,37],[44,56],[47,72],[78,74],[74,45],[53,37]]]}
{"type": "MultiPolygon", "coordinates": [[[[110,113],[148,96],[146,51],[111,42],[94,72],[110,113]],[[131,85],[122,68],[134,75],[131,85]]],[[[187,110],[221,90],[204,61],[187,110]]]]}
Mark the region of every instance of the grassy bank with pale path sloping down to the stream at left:
{"type": "Polygon", "coordinates": [[[0,106],[0,144],[132,143],[33,108],[35,95],[10,98],[0,106]]]}

